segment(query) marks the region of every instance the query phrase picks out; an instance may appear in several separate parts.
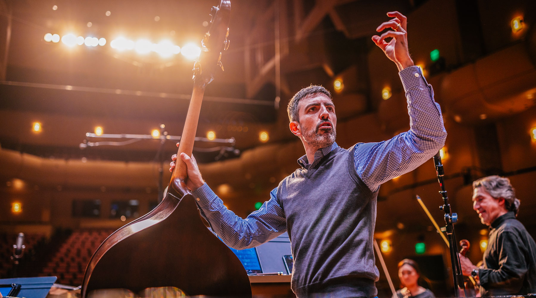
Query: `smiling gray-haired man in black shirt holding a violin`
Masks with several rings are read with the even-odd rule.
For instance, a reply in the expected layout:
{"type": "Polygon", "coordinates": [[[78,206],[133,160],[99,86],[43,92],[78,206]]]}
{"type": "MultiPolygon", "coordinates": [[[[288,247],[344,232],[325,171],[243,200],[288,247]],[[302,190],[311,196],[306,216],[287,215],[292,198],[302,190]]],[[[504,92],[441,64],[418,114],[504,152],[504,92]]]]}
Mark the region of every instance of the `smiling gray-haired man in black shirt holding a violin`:
{"type": "Polygon", "coordinates": [[[460,255],[464,275],[480,279],[482,296],[536,293],[536,243],[516,219],[519,199],[508,178],[488,176],[473,182],[473,209],[491,228],[479,268],[460,255]]]}

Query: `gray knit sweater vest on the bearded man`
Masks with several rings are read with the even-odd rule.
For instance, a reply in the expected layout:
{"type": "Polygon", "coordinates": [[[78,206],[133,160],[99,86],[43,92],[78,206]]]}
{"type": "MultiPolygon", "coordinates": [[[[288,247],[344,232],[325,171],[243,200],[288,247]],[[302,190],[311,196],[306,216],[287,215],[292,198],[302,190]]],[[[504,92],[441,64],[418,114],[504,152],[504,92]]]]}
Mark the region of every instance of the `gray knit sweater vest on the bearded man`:
{"type": "Polygon", "coordinates": [[[373,234],[376,198],[357,175],[355,146],[336,148],[311,170],[297,169],[279,184],[298,297],[377,294],[373,234]]]}

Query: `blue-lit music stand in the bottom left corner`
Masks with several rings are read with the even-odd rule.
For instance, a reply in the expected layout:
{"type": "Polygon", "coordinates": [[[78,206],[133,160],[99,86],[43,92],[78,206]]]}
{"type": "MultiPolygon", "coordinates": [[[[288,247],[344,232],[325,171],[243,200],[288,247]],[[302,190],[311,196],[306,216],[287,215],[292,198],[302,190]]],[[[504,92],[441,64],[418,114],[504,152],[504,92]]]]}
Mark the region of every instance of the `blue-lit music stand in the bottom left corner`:
{"type": "Polygon", "coordinates": [[[17,293],[11,293],[12,296],[46,298],[56,279],[55,276],[5,278],[0,279],[0,285],[20,285],[17,293]]]}

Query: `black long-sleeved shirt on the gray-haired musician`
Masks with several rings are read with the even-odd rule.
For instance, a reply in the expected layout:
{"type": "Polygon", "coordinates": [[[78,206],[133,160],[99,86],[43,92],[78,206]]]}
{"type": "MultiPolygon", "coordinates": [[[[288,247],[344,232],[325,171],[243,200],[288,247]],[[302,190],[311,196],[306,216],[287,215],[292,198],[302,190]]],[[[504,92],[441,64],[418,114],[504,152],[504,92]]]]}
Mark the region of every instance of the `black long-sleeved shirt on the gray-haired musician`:
{"type": "Polygon", "coordinates": [[[513,212],[493,221],[484,268],[479,271],[482,296],[536,293],[536,243],[513,212]]]}

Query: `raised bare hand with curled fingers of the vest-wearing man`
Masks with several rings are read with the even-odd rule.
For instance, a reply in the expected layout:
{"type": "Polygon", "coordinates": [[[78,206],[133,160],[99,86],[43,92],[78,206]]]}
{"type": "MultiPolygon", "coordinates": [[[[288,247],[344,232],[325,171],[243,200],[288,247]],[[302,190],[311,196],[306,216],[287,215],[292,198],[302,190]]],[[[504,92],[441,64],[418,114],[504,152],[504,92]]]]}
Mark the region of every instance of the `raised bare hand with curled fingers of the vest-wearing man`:
{"type": "Polygon", "coordinates": [[[394,31],[387,31],[381,36],[374,35],[372,40],[389,59],[397,64],[400,71],[414,65],[407,47],[407,18],[398,11],[388,12],[387,16],[393,17],[393,19],[379,25],[376,31],[382,32],[386,28],[391,28],[394,31]],[[392,39],[386,42],[386,38],[392,39]]]}

